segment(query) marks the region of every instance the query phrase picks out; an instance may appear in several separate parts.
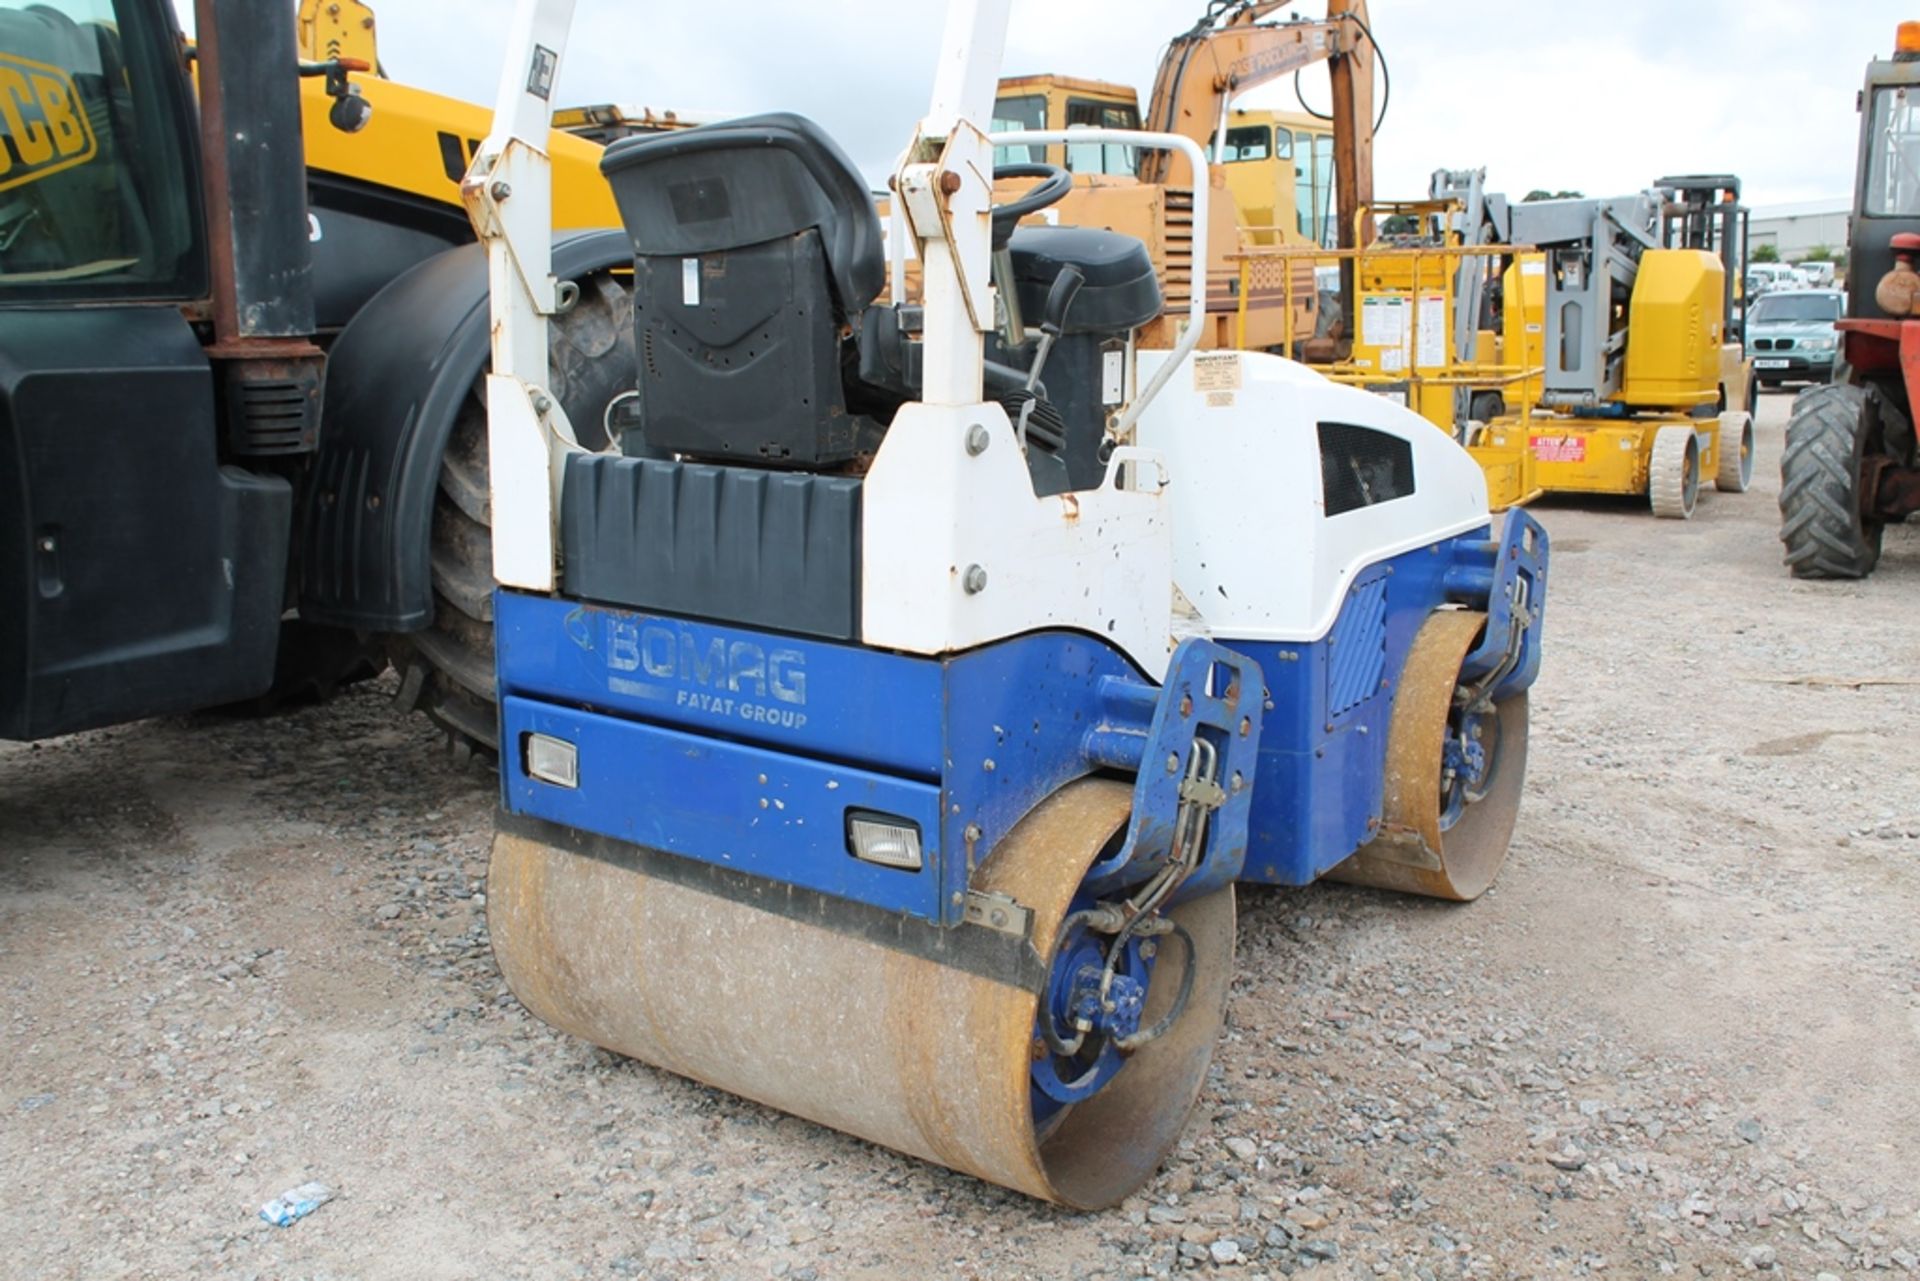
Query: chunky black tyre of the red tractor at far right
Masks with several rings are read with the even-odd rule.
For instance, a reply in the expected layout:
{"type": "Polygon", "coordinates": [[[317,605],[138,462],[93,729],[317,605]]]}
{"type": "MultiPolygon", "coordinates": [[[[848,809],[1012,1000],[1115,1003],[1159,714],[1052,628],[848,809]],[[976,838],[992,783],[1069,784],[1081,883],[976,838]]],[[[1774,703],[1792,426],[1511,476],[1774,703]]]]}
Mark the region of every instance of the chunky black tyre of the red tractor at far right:
{"type": "Polygon", "coordinates": [[[1880,411],[1866,388],[1816,386],[1793,401],[1780,457],[1780,542],[1795,578],[1874,570],[1882,526],[1860,513],[1860,476],[1880,440],[1880,411]]]}

